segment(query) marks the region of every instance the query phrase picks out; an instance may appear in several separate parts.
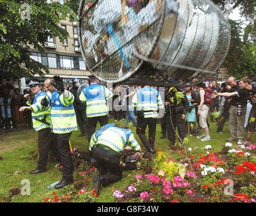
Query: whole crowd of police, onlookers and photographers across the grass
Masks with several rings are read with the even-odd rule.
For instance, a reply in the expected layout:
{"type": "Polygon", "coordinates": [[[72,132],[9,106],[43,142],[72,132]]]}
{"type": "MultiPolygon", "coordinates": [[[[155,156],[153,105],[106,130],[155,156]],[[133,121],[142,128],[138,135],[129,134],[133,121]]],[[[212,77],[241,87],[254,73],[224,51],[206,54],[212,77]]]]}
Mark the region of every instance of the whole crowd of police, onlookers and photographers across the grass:
{"type": "Polygon", "coordinates": [[[64,86],[60,76],[47,78],[43,85],[39,80],[31,79],[27,80],[30,90],[23,96],[12,82],[2,80],[0,86],[1,109],[7,110],[2,117],[11,117],[9,110],[14,104],[18,106],[14,109],[16,113],[23,115],[30,112],[33,128],[38,132],[39,162],[30,173],[47,170],[50,150],[60,159],[62,180],[55,186],[56,189],[73,182],[70,136],[77,130],[81,131],[78,136],[87,137],[89,154],[86,158],[94,160],[100,170],[100,175],[93,177],[93,188],[97,194],[101,185],[108,186],[123,178],[123,169],[119,167],[119,155],[123,150],[141,151],[140,144],[127,127],[129,124],[135,126],[135,133],[150,154],[156,153],[154,144],[158,122],[161,123],[160,138],[168,139],[173,151],[184,148],[187,134],[196,136],[202,142],[211,140],[209,116],[211,122],[216,121],[219,133],[226,120],[230,119],[231,137],[227,141],[242,144],[245,129],[248,130],[246,141],[251,140],[255,131],[252,119],[255,119],[256,86],[248,77],[239,82],[230,77],[221,86],[215,81],[196,82],[184,88],[173,86],[165,88],[165,95],[161,95],[160,89],[154,86],[116,84],[112,89],[99,84],[94,76],[87,81],[81,85],[77,78],[73,78],[68,86],[64,86]],[[5,88],[14,90],[16,103],[8,102],[12,99],[9,99],[7,90],[2,90],[5,88]],[[251,110],[247,109],[249,105],[251,110]],[[111,108],[114,124],[108,124],[111,108]],[[125,119],[125,126],[121,126],[118,121],[125,119]],[[98,122],[100,128],[96,130],[98,122]],[[198,129],[202,129],[202,134],[198,129]]]}

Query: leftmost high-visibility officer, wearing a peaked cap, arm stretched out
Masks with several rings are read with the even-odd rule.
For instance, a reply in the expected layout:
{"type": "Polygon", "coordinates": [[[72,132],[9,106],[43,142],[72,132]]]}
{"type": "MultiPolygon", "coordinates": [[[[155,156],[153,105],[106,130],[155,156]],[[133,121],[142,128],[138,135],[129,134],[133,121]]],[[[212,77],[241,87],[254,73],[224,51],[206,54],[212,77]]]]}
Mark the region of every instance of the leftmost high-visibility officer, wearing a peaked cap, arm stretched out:
{"type": "Polygon", "coordinates": [[[24,95],[28,106],[20,107],[20,111],[32,111],[33,128],[38,132],[39,161],[37,169],[30,171],[31,174],[37,174],[47,170],[49,150],[54,153],[55,157],[59,156],[54,134],[51,133],[50,109],[41,105],[42,99],[48,98],[49,95],[40,90],[40,80],[34,78],[27,80],[26,83],[32,94],[24,95]]]}

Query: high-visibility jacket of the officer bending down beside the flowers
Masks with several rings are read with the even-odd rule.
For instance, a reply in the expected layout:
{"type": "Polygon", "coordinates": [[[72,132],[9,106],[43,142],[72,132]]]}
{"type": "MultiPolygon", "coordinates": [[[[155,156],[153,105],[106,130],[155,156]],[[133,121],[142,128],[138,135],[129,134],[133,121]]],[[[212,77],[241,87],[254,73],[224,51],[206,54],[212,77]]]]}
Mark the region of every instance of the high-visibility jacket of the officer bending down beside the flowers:
{"type": "Polygon", "coordinates": [[[140,149],[140,144],[135,140],[131,130],[117,128],[114,124],[103,126],[91,136],[89,151],[95,144],[104,144],[112,148],[116,153],[121,153],[127,144],[135,151],[140,149]]]}

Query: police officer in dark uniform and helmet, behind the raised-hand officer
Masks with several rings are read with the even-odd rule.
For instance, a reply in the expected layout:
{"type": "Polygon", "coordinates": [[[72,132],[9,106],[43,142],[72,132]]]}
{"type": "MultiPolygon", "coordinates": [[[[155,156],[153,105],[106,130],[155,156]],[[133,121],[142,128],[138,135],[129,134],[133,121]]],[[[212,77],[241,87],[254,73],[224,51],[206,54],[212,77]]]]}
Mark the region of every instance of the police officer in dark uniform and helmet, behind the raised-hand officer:
{"type": "MultiPolygon", "coordinates": [[[[80,86],[79,79],[72,78],[72,88],[70,89],[70,92],[74,95],[74,111],[77,116],[77,124],[80,128],[81,134],[78,135],[78,137],[85,136],[85,126],[87,123],[86,118],[86,106],[84,103],[81,103],[77,96],[77,90],[80,86]]],[[[89,86],[89,85],[88,85],[89,86]]]]}

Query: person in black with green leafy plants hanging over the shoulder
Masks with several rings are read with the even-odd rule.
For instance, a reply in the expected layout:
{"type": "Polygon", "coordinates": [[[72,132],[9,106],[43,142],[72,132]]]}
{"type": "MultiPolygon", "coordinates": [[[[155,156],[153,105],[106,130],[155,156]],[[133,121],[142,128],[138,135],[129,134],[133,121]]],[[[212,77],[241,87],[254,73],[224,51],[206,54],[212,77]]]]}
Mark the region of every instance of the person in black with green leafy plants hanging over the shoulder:
{"type": "Polygon", "coordinates": [[[175,130],[177,127],[178,139],[181,143],[180,149],[184,148],[183,140],[186,137],[185,119],[186,112],[188,112],[189,104],[186,95],[183,94],[179,88],[169,88],[169,109],[167,109],[167,136],[171,141],[169,146],[172,150],[177,150],[175,146],[176,134],[175,130]],[[177,92],[181,93],[181,101],[177,99],[177,92]]]}

